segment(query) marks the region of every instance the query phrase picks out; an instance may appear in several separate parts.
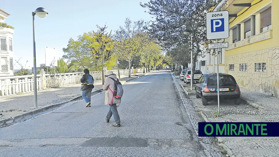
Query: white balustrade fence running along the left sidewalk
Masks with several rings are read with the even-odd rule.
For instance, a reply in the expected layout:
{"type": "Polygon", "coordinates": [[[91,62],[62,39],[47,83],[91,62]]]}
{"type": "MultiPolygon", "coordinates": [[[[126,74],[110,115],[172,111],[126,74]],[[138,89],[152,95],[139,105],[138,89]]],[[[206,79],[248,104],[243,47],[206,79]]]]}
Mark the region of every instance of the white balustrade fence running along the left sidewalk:
{"type": "MultiPolygon", "coordinates": [[[[143,72],[143,69],[135,69],[136,72],[143,72]]],[[[114,74],[117,74],[117,70],[112,70],[114,74]]],[[[131,69],[131,75],[134,69],[131,69]]],[[[119,70],[120,75],[129,74],[129,70],[119,70]]],[[[37,89],[53,88],[67,86],[71,84],[80,83],[80,78],[84,73],[64,73],[64,74],[46,74],[42,71],[37,74],[37,89]]],[[[102,79],[102,71],[91,71],[90,74],[95,80],[102,79]]],[[[104,70],[106,74],[106,70],[104,70]]],[[[10,76],[0,77],[0,97],[9,96],[19,93],[34,91],[34,75],[24,76],[10,76]]]]}

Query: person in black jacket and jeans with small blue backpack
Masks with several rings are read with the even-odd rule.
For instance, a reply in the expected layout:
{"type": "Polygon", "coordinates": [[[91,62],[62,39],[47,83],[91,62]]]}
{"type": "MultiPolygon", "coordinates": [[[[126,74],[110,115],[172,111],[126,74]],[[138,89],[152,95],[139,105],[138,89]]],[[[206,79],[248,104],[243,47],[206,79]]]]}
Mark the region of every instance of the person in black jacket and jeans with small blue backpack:
{"type": "Polygon", "coordinates": [[[82,98],[86,102],[86,107],[91,107],[91,92],[94,88],[94,78],[89,74],[88,69],[83,70],[84,75],[82,75],[82,78],[80,79],[81,85],[81,91],[82,91],[82,98]]]}

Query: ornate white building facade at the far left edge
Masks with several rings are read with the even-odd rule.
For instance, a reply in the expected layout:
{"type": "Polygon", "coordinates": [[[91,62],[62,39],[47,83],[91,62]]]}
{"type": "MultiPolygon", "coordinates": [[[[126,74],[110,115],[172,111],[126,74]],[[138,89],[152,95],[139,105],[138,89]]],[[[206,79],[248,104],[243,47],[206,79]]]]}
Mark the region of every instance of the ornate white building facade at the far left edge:
{"type": "Polygon", "coordinates": [[[14,75],[13,27],[5,23],[10,14],[0,9],[0,77],[14,75]]]}

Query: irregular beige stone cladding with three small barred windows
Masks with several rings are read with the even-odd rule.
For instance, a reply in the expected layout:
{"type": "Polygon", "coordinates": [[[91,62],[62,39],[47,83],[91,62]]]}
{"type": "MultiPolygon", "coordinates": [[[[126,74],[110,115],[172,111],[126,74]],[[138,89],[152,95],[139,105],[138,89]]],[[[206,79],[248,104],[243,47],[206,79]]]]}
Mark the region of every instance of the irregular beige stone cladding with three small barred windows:
{"type": "Polygon", "coordinates": [[[225,57],[225,73],[231,74],[240,87],[279,98],[279,47],[225,57]],[[276,53],[277,52],[277,53],[276,53]],[[266,63],[266,72],[255,72],[255,63],[266,63]],[[240,64],[247,63],[247,71],[240,64]],[[234,71],[229,71],[234,64],[234,71]]]}

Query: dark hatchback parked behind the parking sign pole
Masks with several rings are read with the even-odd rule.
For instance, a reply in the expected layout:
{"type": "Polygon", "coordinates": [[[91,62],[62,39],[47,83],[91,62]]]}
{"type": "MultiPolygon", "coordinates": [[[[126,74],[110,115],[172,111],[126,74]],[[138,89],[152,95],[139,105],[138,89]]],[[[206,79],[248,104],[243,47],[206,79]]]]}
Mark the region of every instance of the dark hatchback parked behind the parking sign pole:
{"type": "MultiPolygon", "coordinates": [[[[198,80],[195,90],[196,97],[201,97],[202,105],[216,100],[217,74],[203,74],[198,80]]],[[[220,99],[234,99],[235,104],[240,104],[240,88],[232,75],[219,73],[219,97],[220,99]]]]}

